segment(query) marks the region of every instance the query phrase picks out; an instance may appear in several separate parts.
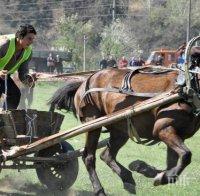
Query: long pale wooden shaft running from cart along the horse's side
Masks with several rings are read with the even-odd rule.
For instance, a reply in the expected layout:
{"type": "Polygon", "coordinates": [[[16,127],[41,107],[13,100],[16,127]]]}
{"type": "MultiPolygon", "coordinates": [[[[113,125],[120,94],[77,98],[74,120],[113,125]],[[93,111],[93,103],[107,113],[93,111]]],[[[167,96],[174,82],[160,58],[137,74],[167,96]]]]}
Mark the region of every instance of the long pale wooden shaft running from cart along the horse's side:
{"type": "Polygon", "coordinates": [[[36,142],[33,142],[29,145],[20,146],[14,152],[12,151],[12,153],[8,152],[6,159],[9,160],[9,159],[13,159],[18,156],[34,153],[41,149],[53,146],[54,144],[64,141],[66,139],[75,137],[75,136],[83,134],[83,133],[93,131],[102,126],[113,124],[120,120],[141,114],[141,113],[149,111],[155,107],[158,107],[160,105],[165,105],[167,103],[176,101],[178,99],[181,99],[181,97],[178,93],[176,93],[176,94],[170,94],[169,92],[163,93],[159,96],[156,96],[156,97],[153,97],[146,101],[143,101],[142,103],[137,104],[134,107],[131,106],[126,109],[115,112],[111,115],[103,116],[101,118],[98,118],[98,119],[92,120],[90,122],[84,123],[82,125],[79,125],[68,131],[61,131],[57,134],[45,137],[45,138],[38,140],[36,142]]]}

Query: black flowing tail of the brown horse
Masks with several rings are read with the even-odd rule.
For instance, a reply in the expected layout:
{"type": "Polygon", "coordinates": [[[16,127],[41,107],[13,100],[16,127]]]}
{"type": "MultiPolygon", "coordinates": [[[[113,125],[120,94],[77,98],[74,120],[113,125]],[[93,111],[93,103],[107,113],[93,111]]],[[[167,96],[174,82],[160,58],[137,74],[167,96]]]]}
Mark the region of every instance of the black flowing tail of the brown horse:
{"type": "Polygon", "coordinates": [[[82,83],[83,81],[71,81],[65,84],[65,86],[56,90],[56,92],[48,101],[48,105],[50,105],[49,111],[54,111],[54,109],[64,109],[66,111],[73,111],[74,115],[76,116],[74,96],[82,83]]]}

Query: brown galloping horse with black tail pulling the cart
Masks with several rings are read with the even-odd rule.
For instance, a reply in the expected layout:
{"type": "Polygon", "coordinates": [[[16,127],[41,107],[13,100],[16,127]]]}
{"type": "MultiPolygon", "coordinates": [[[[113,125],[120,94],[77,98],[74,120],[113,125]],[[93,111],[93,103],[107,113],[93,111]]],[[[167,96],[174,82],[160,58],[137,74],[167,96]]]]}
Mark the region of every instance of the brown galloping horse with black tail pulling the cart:
{"type": "MultiPolygon", "coordinates": [[[[74,109],[82,122],[141,103],[148,98],[107,91],[111,87],[120,88],[129,71],[105,69],[83,83],[68,83],[54,94],[50,103],[58,109],[74,109]],[[104,88],[105,91],[100,92],[97,88],[104,88]],[[94,91],[88,91],[89,89],[94,91]]],[[[161,74],[136,71],[130,84],[135,93],[162,93],[176,87],[177,75],[177,71],[161,74]]],[[[200,117],[193,113],[193,107],[183,99],[132,117],[131,121],[140,138],[162,141],[167,145],[167,168],[157,172],[155,185],[175,182],[190,164],[192,154],[184,140],[193,136],[199,129],[199,120],[200,117]]],[[[121,178],[124,188],[130,193],[135,193],[135,181],[131,172],[116,161],[118,151],[129,139],[127,120],[113,123],[106,128],[110,132],[110,139],[100,157],[121,178]]],[[[95,153],[100,134],[101,128],[87,133],[82,158],[95,194],[105,195],[95,169],[95,153]]]]}

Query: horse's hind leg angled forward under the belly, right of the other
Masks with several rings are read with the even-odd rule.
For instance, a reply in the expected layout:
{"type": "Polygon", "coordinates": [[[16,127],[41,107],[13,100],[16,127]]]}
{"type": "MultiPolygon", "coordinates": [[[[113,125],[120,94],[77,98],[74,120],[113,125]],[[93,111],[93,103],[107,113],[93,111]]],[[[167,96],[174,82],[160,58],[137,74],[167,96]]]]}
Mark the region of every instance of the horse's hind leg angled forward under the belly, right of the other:
{"type": "Polygon", "coordinates": [[[110,140],[101,153],[101,159],[122,179],[124,188],[130,193],[135,193],[135,181],[132,173],[116,161],[119,149],[127,142],[128,135],[116,130],[110,130],[110,140]]]}

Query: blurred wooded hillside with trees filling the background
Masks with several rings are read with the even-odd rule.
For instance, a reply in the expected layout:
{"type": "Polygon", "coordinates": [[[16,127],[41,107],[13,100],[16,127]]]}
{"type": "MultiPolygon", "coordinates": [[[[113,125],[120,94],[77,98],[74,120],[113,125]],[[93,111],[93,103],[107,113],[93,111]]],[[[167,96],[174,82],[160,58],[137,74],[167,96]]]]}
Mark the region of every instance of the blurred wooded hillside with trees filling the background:
{"type": "MultiPolygon", "coordinates": [[[[2,0],[1,33],[13,33],[21,23],[37,29],[34,48],[73,51],[81,69],[83,35],[87,69],[98,68],[102,55],[147,58],[160,47],[175,49],[186,41],[188,0],[2,0]]],[[[192,0],[190,38],[199,35],[200,1],[192,0]]]]}

